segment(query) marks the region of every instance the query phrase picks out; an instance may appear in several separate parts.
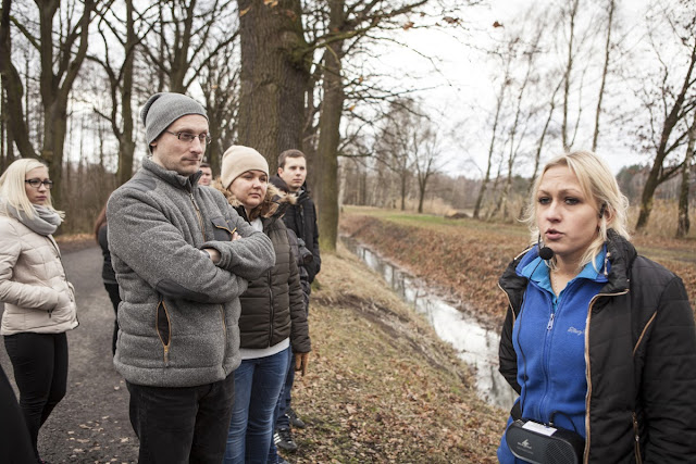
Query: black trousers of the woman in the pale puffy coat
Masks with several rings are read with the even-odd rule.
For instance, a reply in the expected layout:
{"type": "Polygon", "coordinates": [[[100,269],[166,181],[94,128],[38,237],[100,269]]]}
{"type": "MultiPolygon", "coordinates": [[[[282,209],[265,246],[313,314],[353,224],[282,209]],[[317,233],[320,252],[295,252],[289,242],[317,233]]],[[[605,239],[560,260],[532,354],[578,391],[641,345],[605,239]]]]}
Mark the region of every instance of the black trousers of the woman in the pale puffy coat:
{"type": "Polygon", "coordinates": [[[20,407],[29,430],[34,453],[39,428],[65,396],[67,337],[63,334],[22,333],[4,337],[20,389],[20,407]]]}

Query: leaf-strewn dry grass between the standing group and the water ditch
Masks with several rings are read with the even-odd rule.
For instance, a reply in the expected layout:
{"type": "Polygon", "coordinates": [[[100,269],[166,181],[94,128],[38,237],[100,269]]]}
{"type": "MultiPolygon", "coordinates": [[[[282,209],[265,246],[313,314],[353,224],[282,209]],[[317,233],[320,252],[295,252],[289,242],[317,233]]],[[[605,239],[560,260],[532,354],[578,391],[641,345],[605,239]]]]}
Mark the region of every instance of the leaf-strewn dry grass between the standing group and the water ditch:
{"type": "Polygon", "coordinates": [[[296,379],[295,463],[494,463],[507,413],[380,276],[339,247],[312,293],[313,352],[296,379]]]}

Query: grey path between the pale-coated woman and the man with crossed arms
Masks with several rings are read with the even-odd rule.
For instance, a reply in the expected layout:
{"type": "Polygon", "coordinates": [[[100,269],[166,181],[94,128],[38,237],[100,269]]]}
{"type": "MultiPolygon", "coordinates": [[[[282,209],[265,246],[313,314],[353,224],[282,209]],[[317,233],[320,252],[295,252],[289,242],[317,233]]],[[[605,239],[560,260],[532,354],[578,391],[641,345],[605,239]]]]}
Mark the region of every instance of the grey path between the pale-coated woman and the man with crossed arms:
{"type": "MultiPolygon", "coordinates": [[[[113,310],[101,281],[101,251],[69,248],[63,264],[75,286],[79,327],[67,334],[67,393],[39,432],[39,452],[50,463],[134,463],[128,391],[111,362],[113,310]]],[[[4,343],[0,364],[14,385],[4,343]]]]}

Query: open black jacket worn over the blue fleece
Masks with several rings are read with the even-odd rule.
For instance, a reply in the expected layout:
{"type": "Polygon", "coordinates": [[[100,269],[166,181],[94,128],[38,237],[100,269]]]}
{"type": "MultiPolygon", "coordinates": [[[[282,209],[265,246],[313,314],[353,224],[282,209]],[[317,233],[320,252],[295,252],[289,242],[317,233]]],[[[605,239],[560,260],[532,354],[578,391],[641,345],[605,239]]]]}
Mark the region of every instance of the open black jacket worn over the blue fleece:
{"type": "MultiPolygon", "coordinates": [[[[517,273],[523,255],[499,280],[510,302],[500,373],[518,392],[511,335],[527,285],[517,273]]],[[[608,283],[587,311],[584,462],[696,462],[696,329],[684,285],[613,230],[607,256],[608,283]]]]}

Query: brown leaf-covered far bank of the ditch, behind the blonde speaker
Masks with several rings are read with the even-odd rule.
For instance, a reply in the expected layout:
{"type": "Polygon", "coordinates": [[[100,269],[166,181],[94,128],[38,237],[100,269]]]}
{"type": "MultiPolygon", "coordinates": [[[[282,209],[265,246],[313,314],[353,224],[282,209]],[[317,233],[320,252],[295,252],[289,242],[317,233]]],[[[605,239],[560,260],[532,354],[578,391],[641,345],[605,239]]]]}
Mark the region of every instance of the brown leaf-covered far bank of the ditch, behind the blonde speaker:
{"type": "MultiPolygon", "coordinates": [[[[341,216],[341,231],[458,297],[492,326],[502,322],[507,308],[498,277],[529,242],[523,225],[368,208],[349,208],[341,216]]],[[[655,236],[632,241],[639,253],[684,280],[696,314],[696,241],[655,236]]]]}

